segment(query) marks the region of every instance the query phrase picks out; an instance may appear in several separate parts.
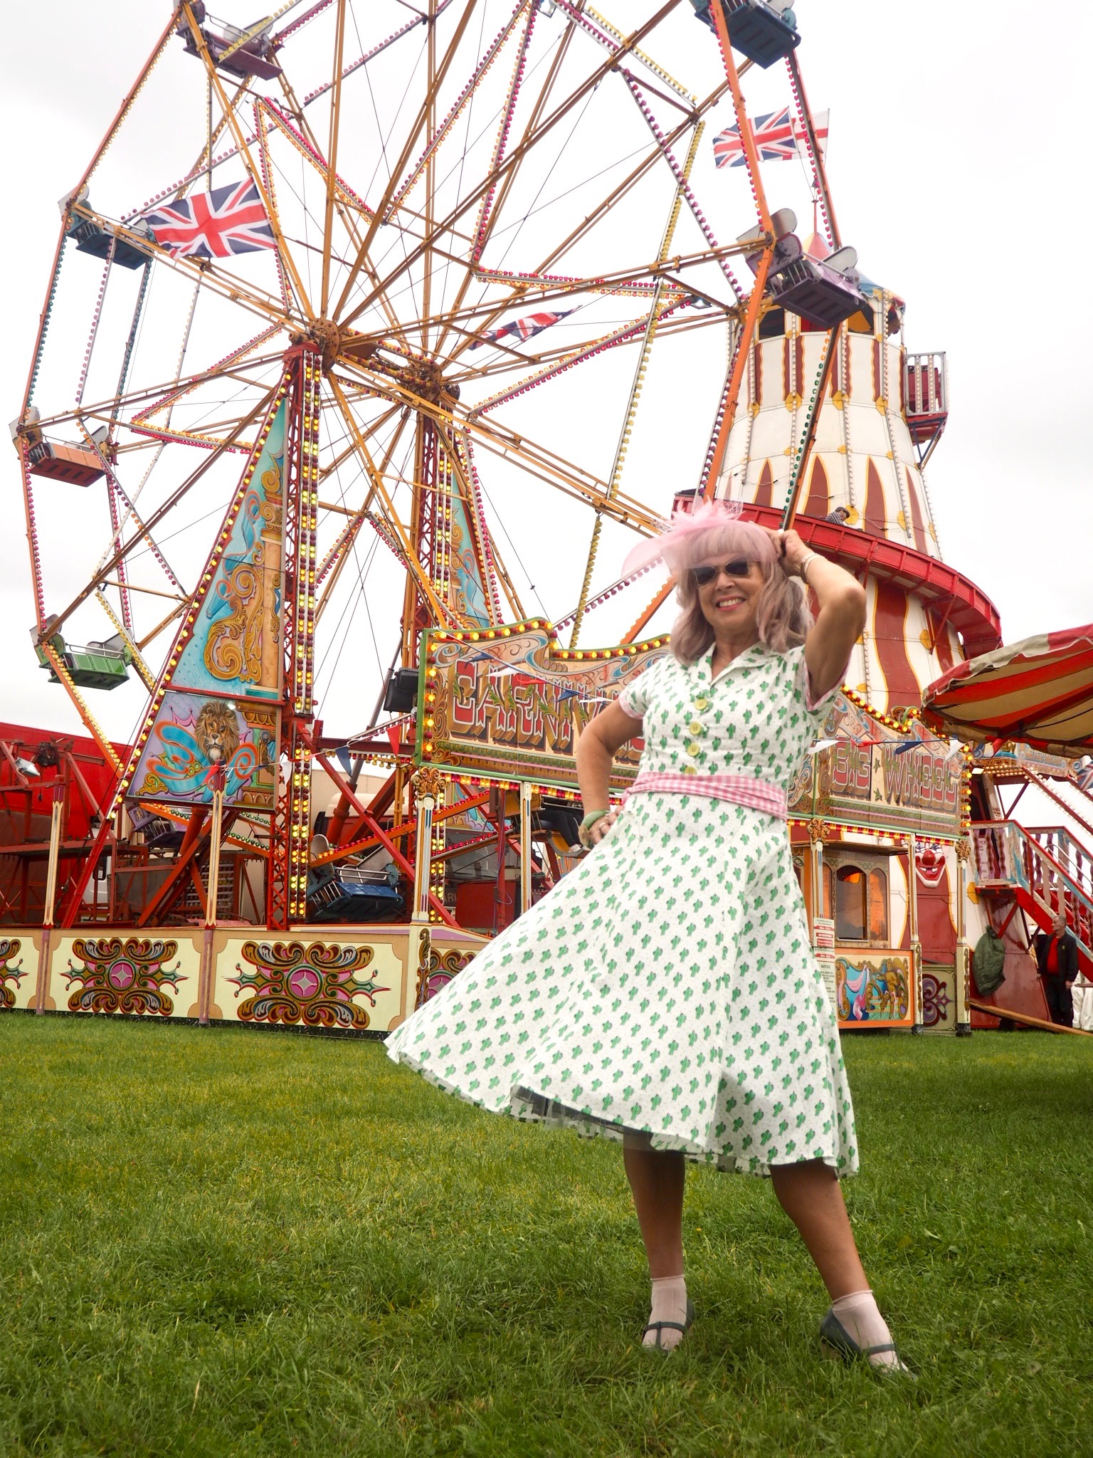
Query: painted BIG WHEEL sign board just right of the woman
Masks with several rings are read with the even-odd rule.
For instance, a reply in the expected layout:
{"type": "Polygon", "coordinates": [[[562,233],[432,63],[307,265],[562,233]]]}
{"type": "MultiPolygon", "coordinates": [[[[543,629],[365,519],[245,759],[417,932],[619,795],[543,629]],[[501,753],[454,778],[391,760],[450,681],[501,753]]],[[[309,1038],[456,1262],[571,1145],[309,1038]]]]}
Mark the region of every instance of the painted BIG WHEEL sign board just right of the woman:
{"type": "Polygon", "coordinates": [[[966,812],[962,748],[912,720],[879,720],[837,694],[790,792],[790,815],[956,841],[966,812]]]}

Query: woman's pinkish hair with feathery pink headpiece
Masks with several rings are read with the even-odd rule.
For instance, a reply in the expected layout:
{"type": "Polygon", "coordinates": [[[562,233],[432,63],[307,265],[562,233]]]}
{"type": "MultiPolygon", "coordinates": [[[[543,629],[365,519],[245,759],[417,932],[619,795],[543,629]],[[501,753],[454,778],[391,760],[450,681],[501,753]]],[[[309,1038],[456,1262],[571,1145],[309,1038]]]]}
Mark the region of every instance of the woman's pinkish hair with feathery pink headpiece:
{"type": "Polygon", "coordinates": [[[707,502],[694,512],[676,512],[666,532],[641,542],[627,557],[625,572],[663,558],[675,576],[682,612],[672,625],[672,652],[681,663],[697,662],[714,642],[691,569],[739,557],[758,563],[764,576],[756,611],[759,642],[775,653],[803,643],[812,627],[804,585],[781,570],[767,532],[755,522],[740,521],[739,502],[707,502]]]}

